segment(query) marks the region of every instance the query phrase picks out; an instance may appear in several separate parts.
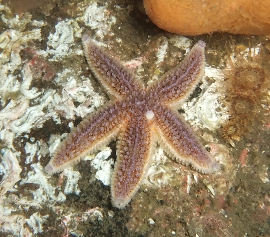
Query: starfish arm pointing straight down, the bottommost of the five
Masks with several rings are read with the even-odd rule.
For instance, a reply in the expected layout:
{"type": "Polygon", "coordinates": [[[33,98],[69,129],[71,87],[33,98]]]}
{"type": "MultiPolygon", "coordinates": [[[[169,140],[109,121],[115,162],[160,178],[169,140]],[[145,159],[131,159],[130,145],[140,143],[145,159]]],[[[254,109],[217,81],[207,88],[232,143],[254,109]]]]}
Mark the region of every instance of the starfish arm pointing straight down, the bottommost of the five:
{"type": "Polygon", "coordinates": [[[120,134],[112,175],[112,204],[123,208],[138,191],[152,156],[152,129],[145,117],[131,119],[120,134]]]}

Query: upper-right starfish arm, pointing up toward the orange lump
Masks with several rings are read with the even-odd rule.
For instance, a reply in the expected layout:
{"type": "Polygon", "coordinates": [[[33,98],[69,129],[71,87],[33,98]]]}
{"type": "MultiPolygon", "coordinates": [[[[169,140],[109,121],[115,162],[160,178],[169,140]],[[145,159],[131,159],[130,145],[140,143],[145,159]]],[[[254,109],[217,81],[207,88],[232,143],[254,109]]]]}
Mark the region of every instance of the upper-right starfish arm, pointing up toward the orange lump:
{"type": "Polygon", "coordinates": [[[167,105],[175,106],[186,99],[202,79],[205,67],[205,43],[199,41],[173,69],[154,82],[148,91],[167,105]]]}

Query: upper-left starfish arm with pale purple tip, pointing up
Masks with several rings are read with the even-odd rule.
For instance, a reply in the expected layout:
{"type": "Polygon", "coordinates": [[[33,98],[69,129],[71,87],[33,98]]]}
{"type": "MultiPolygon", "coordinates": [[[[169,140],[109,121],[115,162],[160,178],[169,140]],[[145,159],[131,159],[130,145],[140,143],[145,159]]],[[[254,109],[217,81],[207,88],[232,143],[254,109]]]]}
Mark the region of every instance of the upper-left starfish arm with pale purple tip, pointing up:
{"type": "Polygon", "coordinates": [[[144,89],[144,84],[128,68],[98,46],[88,35],[82,38],[91,71],[110,96],[122,99],[144,89]]]}

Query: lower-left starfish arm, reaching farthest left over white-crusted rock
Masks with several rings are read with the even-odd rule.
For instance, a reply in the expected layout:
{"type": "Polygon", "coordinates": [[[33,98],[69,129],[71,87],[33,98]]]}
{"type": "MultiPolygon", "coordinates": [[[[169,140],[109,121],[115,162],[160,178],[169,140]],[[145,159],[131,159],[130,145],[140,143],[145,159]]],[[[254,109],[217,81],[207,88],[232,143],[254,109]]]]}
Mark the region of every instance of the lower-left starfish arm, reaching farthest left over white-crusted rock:
{"type": "Polygon", "coordinates": [[[124,116],[122,104],[115,103],[104,106],[84,119],[62,141],[45,169],[49,173],[56,173],[108,144],[122,126],[124,116]]]}

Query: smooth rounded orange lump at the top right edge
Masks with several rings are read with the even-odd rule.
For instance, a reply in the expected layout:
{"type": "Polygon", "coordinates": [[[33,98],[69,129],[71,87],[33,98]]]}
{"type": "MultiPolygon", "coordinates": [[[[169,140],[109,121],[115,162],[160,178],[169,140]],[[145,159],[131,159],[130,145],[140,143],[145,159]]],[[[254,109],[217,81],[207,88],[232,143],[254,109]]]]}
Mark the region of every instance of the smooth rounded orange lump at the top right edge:
{"type": "Polygon", "coordinates": [[[270,0],[144,0],[158,27],[183,35],[270,34],[270,0]]]}

